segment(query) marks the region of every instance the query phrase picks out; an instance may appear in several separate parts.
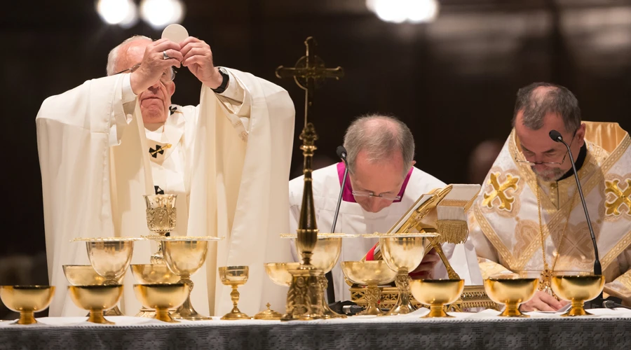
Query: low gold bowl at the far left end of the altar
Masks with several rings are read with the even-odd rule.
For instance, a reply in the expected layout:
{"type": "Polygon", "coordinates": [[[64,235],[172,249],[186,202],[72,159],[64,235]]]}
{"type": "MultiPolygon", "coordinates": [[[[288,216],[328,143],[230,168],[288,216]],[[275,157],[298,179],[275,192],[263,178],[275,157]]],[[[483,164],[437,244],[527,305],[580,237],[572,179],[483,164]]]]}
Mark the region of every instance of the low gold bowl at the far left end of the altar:
{"type": "Polygon", "coordinates": [[[0,286],[0,300],[11,311],[19,312],[18,325],[37,323],[33,314],[48,308],[54,286],[0,286]]]}

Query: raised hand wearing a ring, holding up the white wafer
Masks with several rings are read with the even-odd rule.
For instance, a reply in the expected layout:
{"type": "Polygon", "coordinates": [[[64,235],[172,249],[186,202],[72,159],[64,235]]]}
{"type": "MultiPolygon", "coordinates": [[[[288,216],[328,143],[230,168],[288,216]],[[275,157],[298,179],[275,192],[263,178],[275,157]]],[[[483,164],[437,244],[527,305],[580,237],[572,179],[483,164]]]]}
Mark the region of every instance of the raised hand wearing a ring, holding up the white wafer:
{"type": "Polygon", "coordinates": [[[166,38],[154,41],[144,49],[140,66],[130,76],[130,85],[135,94],[140,94],[158,83],[163,73],[172,66],[179,67],[182,53],[178,43],[166,38]],[[169,57],[165,59],[164,55],[169,57]]]}

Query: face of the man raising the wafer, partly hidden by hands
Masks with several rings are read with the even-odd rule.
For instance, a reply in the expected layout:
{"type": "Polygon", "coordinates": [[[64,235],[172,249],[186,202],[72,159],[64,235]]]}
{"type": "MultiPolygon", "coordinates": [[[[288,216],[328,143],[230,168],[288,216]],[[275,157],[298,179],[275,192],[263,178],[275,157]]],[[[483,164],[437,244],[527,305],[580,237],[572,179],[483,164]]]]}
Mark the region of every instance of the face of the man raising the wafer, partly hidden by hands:
{"type": "MultiPolygon", "coordinates": [[[[118,52],[119,59],[116,71],[128,69],[142,62],[144,50],[150,43],[151,41],[149,40],[135,40],[123,46],[118,52]]],[[[142,113],[142,121],[145,124],[165,122],[169,116],[169,106],[171,105],[173,92],[175,92],[175,83],[158,80],[149,89],[138,94],[140,113],[142,113]]]]}

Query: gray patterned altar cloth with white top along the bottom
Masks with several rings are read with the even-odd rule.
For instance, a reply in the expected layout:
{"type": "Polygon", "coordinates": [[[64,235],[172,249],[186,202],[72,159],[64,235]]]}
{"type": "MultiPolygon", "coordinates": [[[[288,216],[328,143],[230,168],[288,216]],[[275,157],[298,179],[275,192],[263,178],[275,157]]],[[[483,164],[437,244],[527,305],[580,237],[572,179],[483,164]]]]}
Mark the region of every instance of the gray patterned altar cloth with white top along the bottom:
{"type": "Polygon", "coordinates": [[[36,325],[0,322],[0,349],[631,349],[631,310],[590,310],[595,316],[532,312],[501,318],[498,311],[452,313],[454,318],[353,316],[327,321],[182,321],[130,316],[38,318],[36,325]]]}

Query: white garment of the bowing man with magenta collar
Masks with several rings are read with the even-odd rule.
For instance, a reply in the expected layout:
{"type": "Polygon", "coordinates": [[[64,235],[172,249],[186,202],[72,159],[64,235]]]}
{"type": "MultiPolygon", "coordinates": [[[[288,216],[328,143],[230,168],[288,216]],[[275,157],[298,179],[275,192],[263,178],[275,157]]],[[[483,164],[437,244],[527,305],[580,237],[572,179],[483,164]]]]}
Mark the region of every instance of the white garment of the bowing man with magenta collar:
{"type": "MultiPolygon", "coordinates": [[[[331,230],[341,187],[340,179],[344,176],[343,173],[344,163],[331,165],[313,172],[313,202],[316,222],[320,232],[329,232],[331,230]]],[[[421,195],[430,193],[435,188],[444,188],[445,183],[413,167],[399,193],[401,200],[393,202],[391,206],[381,209],[377,213],[365,211],[360,207],[360,204],[354,202],[353,195],[350,193],[348,179],[346,179],[345,187],[335,232],[362,235],[374,232],[387,232],[421,195]]],[[[299,176],[290,181],[291,232],[296,232],[298,228],[303,188],[304,176],[299,176]]],[[[332,269],[336,300],[351,300],[351,292],[348,290],[348,284],[344,281],[344,272],[341,271],[339,262],[361,260],[377,241],[378,239],[363,237],[342,239],[339,260],[332,269]]],[[[466,284],[482,284],[482,276],[477,267],[473,244],[467,241],[465,244],[443,244],[442,247],[449,259],[449,263],[461,278],[466,280],[466,284]]],[[[292,255],[294,256],[294,261],[299,261],[299,256],[294,246],[292,246],[292,255]]],[[[447,271],[441,262],[437,264],[434,276],[435,278],[447,278],[447,271]]]]}

